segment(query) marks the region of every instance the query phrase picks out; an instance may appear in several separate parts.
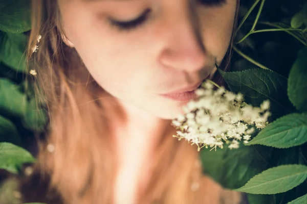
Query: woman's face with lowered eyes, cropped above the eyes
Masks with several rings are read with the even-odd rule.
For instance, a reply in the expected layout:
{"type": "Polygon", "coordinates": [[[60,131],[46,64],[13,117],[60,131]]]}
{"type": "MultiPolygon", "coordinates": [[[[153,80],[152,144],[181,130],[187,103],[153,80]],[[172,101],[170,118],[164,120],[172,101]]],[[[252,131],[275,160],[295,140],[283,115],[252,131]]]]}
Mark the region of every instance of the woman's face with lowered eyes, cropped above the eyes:
{"type": "Polygon", "coordinates": [[[58,0],[58,5],[68,39],[97,83],[123,103],[164,119],[182,113],[187,101],[161,94],[199,84],[221,63],[236,10],[236,0],[58,0]]]}

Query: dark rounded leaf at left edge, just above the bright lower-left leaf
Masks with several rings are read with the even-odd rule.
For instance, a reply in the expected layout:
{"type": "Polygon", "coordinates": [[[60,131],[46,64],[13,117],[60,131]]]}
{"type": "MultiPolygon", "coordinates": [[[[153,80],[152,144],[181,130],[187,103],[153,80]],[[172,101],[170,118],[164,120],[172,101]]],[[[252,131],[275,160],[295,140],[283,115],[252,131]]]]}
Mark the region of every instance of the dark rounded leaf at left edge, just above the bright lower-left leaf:
{"type": "Polygon", "coordinates": [[[10,142],[21,145],[20,137],[15,125],[0,115],[0,142],[10,142]]]}

